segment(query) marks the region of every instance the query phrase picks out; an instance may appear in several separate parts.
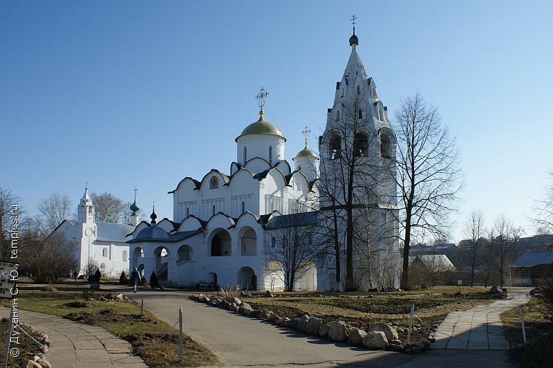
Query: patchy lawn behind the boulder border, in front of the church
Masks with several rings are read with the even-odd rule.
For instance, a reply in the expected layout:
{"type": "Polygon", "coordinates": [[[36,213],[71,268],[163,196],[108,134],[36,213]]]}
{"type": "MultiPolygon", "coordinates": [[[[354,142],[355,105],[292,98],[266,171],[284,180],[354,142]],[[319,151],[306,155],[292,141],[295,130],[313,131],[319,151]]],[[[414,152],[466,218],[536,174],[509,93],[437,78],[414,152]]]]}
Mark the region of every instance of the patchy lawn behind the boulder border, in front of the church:
{"type": "MultiPolygon", "coordinates": [[[[473,306],[490,304],[501,296],[488,293],[488,288],[463,287],[461,297],[455,295],[456,286],[438,286],[422,291],[393,293],[278,293],[277,297],[243,297],[241,300],[254,309],[268,309],[282,317],[294,318],[307,311],[321,318],[323,323],[342,320],[352,328],[364,329],[372,322],[409,323],[411,304],[415,305],[413,320],[417,327],[411,341],[424,338],[431,325],[440,323],[451,311],[465,311],[473,306]]],[[[400,340],[407,333],[398,331],[400,340]]]]}

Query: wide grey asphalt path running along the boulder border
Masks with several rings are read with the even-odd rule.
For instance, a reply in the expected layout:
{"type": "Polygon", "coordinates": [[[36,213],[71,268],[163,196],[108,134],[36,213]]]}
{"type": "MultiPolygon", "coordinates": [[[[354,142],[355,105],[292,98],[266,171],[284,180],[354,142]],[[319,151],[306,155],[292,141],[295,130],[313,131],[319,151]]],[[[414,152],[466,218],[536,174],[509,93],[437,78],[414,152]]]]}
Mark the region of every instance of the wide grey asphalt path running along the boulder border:
{"type": "Polygon", "coordinates": [[[371,351],[298,333],[254,318],[194,302],[188,294],[139,291],[124,286],[113,289],[140,303],[169,324],[184,315],[184,330],[210,347],[223,364],[267,367],[517,367],[507,351],[430,350],[420,356],[390,351],[371,351]]]}

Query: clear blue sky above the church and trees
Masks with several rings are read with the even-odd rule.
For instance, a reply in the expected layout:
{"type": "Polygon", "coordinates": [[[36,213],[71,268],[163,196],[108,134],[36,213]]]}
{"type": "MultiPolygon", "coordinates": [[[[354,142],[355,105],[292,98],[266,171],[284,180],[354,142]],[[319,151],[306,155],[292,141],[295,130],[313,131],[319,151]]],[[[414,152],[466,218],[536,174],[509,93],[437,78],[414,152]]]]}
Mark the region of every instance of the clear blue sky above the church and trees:
{"type": "Polygon", "coordinates": [[[550,1],[2,1],[0,186],[30,212],[52,192],[76,205],[87,181],[125,200],[136,186],[172,218],[182,178],[229,171],[261,86],[286,158],[305,125],[317,149],[353,13],[390,116],[420,91],[457,136],[453,219],[480,208],[532,234],[553,170],[550,1]]]}

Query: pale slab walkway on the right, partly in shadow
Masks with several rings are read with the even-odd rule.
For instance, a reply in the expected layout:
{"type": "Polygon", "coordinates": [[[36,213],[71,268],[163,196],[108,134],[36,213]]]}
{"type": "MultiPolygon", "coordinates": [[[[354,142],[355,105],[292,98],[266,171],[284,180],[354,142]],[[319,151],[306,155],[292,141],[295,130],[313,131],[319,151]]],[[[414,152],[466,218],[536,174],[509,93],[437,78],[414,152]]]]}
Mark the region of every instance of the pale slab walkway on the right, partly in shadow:
{"type": "Polygon", "coordinates": [[[475,306],[464,312],[451,312],[438,327],[432,349],[509,350],[503,335],[500,313],[529,300],[530,289],[509,289],[505,300],[475,306]]]}

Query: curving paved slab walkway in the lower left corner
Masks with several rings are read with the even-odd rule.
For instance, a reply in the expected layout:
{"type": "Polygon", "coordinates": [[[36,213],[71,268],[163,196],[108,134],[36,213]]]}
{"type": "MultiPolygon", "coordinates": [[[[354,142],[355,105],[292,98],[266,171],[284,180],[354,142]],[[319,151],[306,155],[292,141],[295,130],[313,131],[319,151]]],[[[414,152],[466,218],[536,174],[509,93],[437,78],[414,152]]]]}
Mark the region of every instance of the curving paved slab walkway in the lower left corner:
{"type": "MultiPolygon", "coordinates": [[[[9,315],[10,309],[0,307],[1,317],[8,318],[9,315]]],[[[22,324],[48,335],[48,339],[52,341],[51,350],[44,354],[44,358],[52,367],[147,367],[139,356],[118,360],[131,353],[131,344],[101,327],[73,322],[56,315],[22,310],[19,310],[19,320],[22,324]],[[65,357],[53,353],[52,350],[65,357]]],[[[15,346],[12,344],[12,347],[15,346]]]]}

